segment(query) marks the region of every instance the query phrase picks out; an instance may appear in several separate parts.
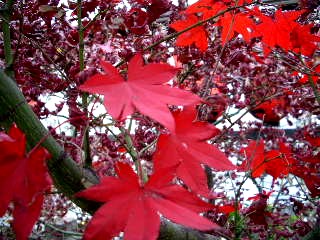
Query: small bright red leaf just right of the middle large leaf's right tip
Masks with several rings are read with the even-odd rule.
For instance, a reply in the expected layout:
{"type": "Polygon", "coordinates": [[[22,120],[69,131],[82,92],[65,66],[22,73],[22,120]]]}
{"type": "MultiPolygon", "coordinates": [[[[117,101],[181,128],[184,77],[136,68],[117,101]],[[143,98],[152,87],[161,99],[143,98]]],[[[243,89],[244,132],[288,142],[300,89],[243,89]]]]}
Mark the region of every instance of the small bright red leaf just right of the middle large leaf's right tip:
{"type": "Polygon", "coordinates": [[[242,148],[241,153],[246,157],[246,160],[240,166],[240,169],[244,171],[252,171],[252,177],[260,177],[266,169],[264,164],[264,141],[260,140],[250,141],[249,145],[242,148]]]}

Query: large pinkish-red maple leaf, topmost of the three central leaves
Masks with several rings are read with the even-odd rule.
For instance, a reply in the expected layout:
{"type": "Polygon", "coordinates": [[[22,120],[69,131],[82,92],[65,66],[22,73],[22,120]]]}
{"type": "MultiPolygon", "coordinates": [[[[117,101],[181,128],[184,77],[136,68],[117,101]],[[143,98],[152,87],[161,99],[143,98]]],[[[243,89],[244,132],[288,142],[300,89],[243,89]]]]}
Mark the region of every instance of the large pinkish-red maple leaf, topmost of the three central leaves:
{"type": "Polygon", "coordinates": [[[127,81],[110,63],[101,61],[101,65],[105,73],[90,77],[80,89],[104,95],[104,105],[113,118],[122,120],[137,109],[173,130],[174,119],[167,105],[188,105],[200,100],[190,92],[164,85],[178,69],[159,63],[144,66],[140,54],[129,62],[127,81]]]}

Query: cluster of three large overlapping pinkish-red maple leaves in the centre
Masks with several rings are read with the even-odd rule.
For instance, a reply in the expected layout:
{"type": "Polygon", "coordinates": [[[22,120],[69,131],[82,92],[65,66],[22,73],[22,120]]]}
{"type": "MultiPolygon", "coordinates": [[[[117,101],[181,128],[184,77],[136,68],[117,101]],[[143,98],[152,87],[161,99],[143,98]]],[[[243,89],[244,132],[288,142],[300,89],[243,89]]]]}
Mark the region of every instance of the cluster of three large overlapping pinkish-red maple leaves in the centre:
{"type": "Polygon", "coordinates": [[[103,94],[106,109],[118,120],[138,110],[162,123],[170,130],[170,134],[162,134],[158,140],[154,174],[146,184],[139,182],[129,166],[118,164],[119,179],[106,177],[101,184],[77,195],[108,201],[93,216],[85,238],[111,238],[124,231],[126,239],[132,239],[133,236],[155,239],[160,225],[158,212],[189,227],[201,230],[216,227],[198,216],[210,205],[203,205],[195,195],[172,183],[176,175],[194,193],[210,197],[201,164],[216,170],[236,168],[218,148],[206,143],[219,131],[208,123],[195,121],[196,109],[190,104],[199,102],[199,98],[190,92],[165,85],[174,77],[177,69],[167,64],[143,65],[139,54],[129,63],[126,81],[111,64],[102,62],[102,66],[104,73],[92,76],[80,89],[103,94]],[[168,104],[189,106],[172,116],[168,104]],[[105,195],[101,194],[102,191],[105,195]],[[131,204],[124,208],[125,202],[131,204]],[[119,210],[121,206],[122,210],[119,210]]]}

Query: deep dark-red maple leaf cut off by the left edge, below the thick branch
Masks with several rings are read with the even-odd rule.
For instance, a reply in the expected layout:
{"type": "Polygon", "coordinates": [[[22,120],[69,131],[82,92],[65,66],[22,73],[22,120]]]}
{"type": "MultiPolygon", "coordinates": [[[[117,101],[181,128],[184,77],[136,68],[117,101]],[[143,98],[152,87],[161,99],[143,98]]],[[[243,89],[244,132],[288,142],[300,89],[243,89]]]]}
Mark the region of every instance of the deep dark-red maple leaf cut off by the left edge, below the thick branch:
{"type": "Polygon", "coordinates": [[[29,236],[40,215],[43,193],[51,185],[45,164],[48,152],[39,147],[26,155],[25,145],[25,135],[16,126],[8,135],[0,133],[0,216],[13,202],[17,239],[29,236]]]}

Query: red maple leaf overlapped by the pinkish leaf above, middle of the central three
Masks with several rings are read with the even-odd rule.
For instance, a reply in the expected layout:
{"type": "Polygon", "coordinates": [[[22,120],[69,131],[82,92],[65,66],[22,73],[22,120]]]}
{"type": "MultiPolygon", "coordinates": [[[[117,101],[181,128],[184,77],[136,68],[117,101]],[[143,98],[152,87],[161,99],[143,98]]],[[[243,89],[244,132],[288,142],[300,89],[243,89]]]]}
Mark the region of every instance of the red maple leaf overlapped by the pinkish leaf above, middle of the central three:
{"type": "Polygon", "coordinates": [[[195,121],[195,109],[175,112],[176,129],[170,135],[160,135],[154,156],[155,169],[178,165],[177,176],[194,192],[209,194],[207,177],[201,164],[216,170],[234,170],[236,167],[217,147],[206,140],[219,130],[206,122],[195,121]]]}

